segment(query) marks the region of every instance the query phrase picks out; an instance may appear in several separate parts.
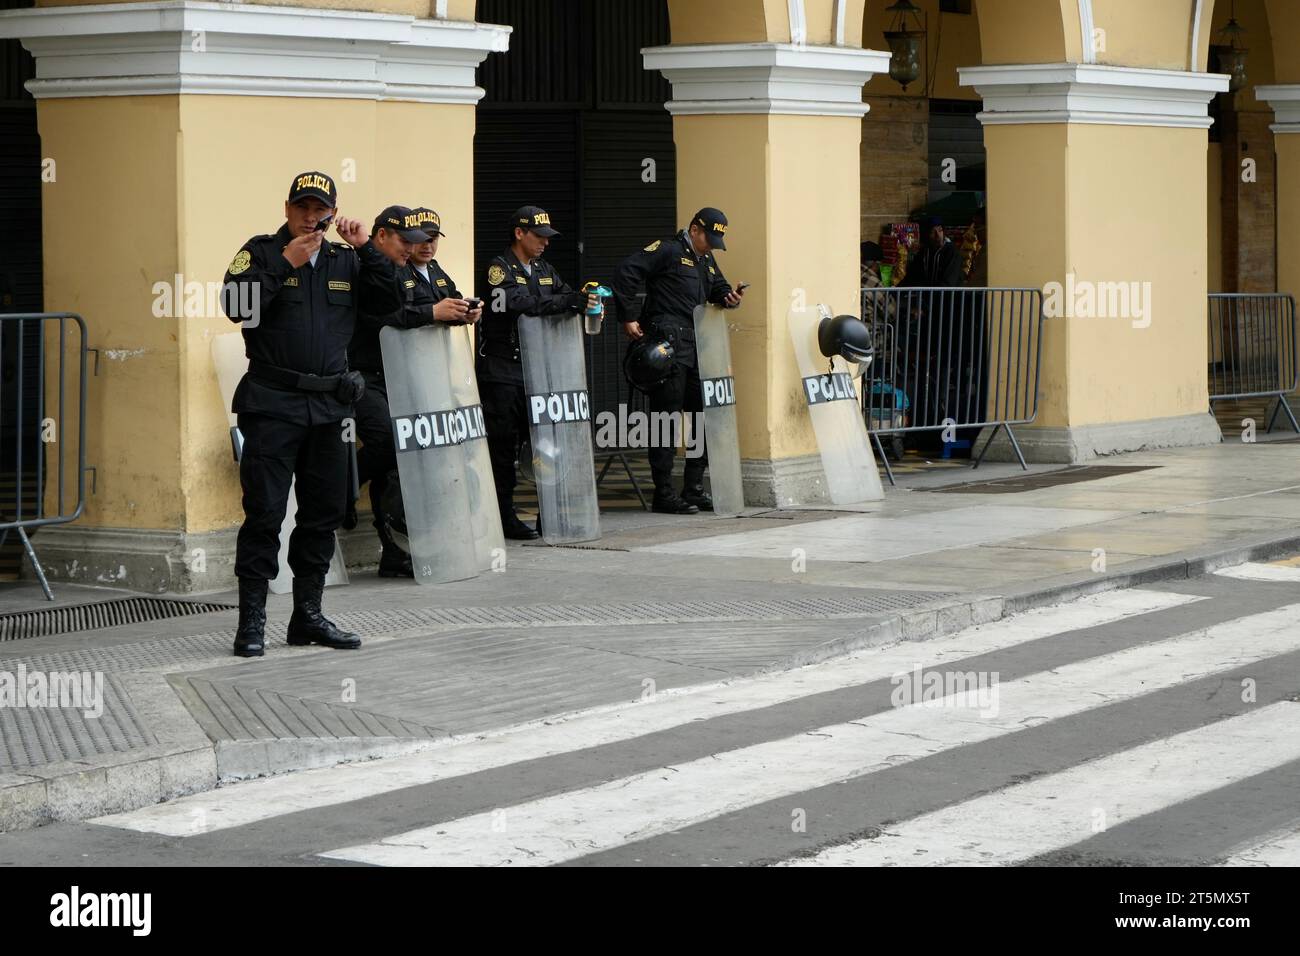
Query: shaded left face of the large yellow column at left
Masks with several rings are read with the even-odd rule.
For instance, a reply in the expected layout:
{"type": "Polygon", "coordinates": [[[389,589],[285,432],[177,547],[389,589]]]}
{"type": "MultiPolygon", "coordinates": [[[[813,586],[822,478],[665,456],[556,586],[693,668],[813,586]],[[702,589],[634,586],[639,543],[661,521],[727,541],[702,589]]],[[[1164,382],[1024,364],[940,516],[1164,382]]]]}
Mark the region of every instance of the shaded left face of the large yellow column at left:
{"type": "MultiPolygon", "coordinates": [[[[177,109],[174,96],[36,104],[42,155],[56,163],[56,181],[42,185],[46,308],[82,313],[100,350],[87,397],[87,464],[98,468],[90,524],[181,527],[185,515],[183,320],[152,315],[152,284],[179,268],[177,109]]],[[[230,191],[229,177],[218,189],[230,191]]],[[[74,423],[70,415],[65,436],[74,423]]]]}

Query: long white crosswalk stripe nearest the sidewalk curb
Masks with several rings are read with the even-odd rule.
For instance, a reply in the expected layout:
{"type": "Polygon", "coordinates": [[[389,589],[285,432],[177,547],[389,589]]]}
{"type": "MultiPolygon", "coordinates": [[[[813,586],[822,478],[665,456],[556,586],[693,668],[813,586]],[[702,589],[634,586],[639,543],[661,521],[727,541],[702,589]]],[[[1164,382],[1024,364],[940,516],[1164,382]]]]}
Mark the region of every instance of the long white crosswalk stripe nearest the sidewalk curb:
{"type": "MultiPolygon", "coordinates": [[[[567,719],[551,718],[545,723],[472,740],[446,741],[419,754],[251,780],[130,813],[100,817],[94,822],[168,836],[213,832],[521,761],[632,740],[693,721],[884,680],[918,663],[933,667],[1202,600],[1206,598],[1156,591],[1093,594],[1069,605],[1043,607],[968,628],[942,641],[872,648],[849,658],[784,674],[664,692],[649,701],[601,708],[567,719]]],[[[828,627],[848,627],[850,623],[831,623],[828,627]]]]}

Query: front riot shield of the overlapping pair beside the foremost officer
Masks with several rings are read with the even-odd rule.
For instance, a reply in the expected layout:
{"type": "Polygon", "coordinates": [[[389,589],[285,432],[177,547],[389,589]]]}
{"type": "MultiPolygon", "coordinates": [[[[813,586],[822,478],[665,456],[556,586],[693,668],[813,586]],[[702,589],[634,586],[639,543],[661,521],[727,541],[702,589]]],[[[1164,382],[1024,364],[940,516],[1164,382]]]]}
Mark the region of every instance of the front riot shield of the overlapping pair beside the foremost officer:
{"type": "Polygon", "coordinates": [[[380,329],[393,445],[402,483],[411,566],[420,584],[478,574],[465,442],[485,433],[482,408],[462,408],[451,389],[451,329],[380,329]]]}

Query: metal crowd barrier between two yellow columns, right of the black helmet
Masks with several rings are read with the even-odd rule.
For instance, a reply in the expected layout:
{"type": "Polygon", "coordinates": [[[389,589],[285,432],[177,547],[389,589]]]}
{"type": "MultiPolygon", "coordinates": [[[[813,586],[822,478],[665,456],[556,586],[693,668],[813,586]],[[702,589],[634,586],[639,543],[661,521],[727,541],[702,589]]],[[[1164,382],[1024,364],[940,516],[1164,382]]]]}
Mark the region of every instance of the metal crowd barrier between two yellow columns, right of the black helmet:
{"type": "Polygon", "coordinates": [[[1005,429],[1028,468],[1013,425],[1039,414],[1041,290],[866,287],[862,320],[875,342],[862,410],[889,484],[894,476],[881,436],[893,436],[897,447],[915,432],[967,432],[978,468],[1005,429]],[[993,431],[976,457],[984,428],[993,431]]]}

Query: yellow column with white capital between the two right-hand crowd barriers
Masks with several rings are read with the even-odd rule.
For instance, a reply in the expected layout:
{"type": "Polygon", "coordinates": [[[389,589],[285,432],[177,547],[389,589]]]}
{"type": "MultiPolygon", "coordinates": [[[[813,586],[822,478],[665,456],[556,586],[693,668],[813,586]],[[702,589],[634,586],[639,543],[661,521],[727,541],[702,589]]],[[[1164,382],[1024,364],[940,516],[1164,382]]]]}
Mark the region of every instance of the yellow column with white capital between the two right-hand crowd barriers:
{"type": "Polygon", "coordinates": [[[1048,310],[1037,421],[1017,432],[1026,457],[1217,442],[1206,108],[1226,78],[1088,64],[961,74],[984,98],[989,284],[1041,289],[1048,310]]]}

